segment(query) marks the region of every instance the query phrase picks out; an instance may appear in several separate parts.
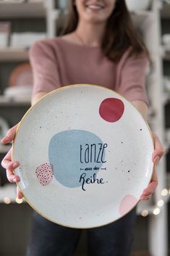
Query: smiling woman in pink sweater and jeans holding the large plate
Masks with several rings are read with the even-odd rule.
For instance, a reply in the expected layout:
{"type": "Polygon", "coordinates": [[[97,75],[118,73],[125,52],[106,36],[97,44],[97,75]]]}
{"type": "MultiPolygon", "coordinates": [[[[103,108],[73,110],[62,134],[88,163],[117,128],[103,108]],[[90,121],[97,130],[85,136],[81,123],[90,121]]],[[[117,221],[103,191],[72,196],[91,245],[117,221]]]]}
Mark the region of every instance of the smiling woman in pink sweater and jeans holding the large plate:
{"type": "MultiPolygon", "coordinates": [[[[93,83],[118,91],[147,120],[148,52],[135,35],[124,0],[70,0],[65,35],[35,43],[30,49],[30,62],[34,76],[32,104],[60,86],[93,83]]],[[[16,128],[17,125],[10,129],[1,142],[11,142],[16,128]]],[[[156,164],[163,149],[155,134],[153,138],[156,149],[152,158],[156,164]]],[[[4,157],[2,166],[7,169],[10,182],[20,181],[13,173],[19,165],[12,162],[11,152],[4,157]]],[[[156,186],[154,170],[152,181],[140,199],[149,199],[156,186]]],[[[18,189],[17,197],[22,198],[18,189]]],[[[135,210],[132,210],[115,223],[89,229],[89,255],[129,255],[134,223],[135,210]]],[[[58,226],[35,213],[27,255],[72,255],[79,237],[80,230],[58,226]]]]}

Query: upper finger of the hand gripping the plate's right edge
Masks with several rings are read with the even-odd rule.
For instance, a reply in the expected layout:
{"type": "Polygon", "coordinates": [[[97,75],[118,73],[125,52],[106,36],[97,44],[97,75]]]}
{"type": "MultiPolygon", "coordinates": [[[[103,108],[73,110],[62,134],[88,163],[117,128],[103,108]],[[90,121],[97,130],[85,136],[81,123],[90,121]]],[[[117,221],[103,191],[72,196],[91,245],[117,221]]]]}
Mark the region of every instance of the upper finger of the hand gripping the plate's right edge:
{"type": "Polygon", "coordinates": [[[153,133],[153,139],[155,144],[155,150],[152,155],[152,160],[154,164],[158,164],[159,160],[164,154],[164,150],[161,141],[158,139],[158,136],[155,133],[153,133]]]}

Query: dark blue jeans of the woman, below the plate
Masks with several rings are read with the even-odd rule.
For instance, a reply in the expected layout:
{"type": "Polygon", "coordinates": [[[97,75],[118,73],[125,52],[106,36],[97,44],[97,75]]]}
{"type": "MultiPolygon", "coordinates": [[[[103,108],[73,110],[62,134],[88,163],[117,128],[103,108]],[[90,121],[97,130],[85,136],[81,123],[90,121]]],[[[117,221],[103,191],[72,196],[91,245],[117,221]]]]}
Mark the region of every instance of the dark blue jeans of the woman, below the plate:
{"type": "MultiPolygon", "coordinates": [[[[114,223],[87,229],[88,255],[129,256],[135,217],[134,209],[114,223]]],[[[59,226],[34,212],[27,256],[72,256],[80,234],[80,229],[59,226]]]]}

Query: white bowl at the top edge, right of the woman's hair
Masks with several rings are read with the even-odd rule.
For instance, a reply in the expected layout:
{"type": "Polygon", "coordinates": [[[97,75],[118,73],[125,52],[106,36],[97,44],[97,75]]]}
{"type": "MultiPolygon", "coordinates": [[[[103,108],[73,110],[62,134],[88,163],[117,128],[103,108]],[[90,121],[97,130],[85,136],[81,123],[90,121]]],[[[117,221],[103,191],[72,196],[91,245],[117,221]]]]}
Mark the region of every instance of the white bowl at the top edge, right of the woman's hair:
{"type": "Polygon", "coordinates": [[[126,0],[126,4],[130,12],[138,12],[148,9],[150,0],[126,0]]]}

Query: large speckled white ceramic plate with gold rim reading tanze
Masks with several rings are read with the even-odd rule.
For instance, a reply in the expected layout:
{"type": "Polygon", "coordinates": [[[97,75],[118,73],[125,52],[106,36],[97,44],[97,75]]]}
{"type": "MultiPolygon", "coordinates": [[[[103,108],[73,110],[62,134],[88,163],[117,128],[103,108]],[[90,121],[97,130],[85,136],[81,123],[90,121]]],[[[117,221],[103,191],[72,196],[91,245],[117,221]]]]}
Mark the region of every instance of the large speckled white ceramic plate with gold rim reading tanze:
{"type": "Polygon", "coordinates": [[[20,122],[13,160],[20,189],[48,220],[103,226],[132,210],[153,173],[147,123],[124,97],[93,85],[44,96],[20,122]]]}

